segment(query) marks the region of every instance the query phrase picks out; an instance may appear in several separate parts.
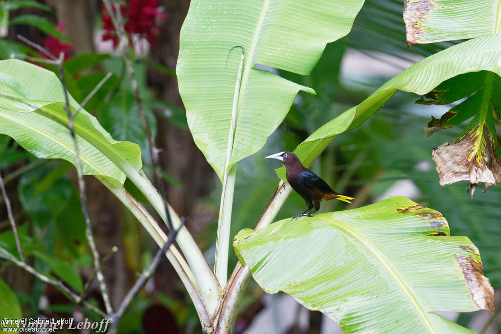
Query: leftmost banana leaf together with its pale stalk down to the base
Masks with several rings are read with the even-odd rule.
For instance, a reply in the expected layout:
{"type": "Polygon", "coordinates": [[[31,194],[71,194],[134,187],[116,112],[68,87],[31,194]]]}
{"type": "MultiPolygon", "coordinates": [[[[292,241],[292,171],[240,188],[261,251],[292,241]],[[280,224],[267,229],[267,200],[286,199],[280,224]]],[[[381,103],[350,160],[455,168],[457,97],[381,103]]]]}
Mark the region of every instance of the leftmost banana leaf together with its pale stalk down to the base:
{"type": "MultiPolygon", "coordinates": [[[[44,158],[63,158],[74,163],[75,152],[72,140],[68,138],[68,116],[63,109],[64,93],[56,75],[29,63],[7,60],[0,61],[0,78],[0,131],[5,131],[34,154],[44,158]],[[19,119],[23,122],[18,122],[19,119]],[[16,129],[18,123],[29,126],[16,129]],[[56,130],[60,132],[51,132],[56,130]],[[63,138],[65,135],[67,137],[63,138]]],[[[78,103],[71,97],[70,105],[74,113],[78,103]]],[[[84,173],[95,175],[101,181],[106,180],[115,188],[119,188],[115,183],[122,185],[127,175],[161,218],[167,221],[165,202],[142,171],[139,146],[113,140],[96,118],[85,110],[80,110],[74,123],[84,173]],[[93,155],[85,154],[85,150],[93,155]]],[[[181,221],[172,209],[170,216],[173,226],[178,228],[181,221]]],[[[204,301],[210,303],[210,309],[214,310],[220,287],[212,270],[185,227],[179,231],[176,240],[186,261],[197,268],[195,279],[200,293],[204,301]]]]}

